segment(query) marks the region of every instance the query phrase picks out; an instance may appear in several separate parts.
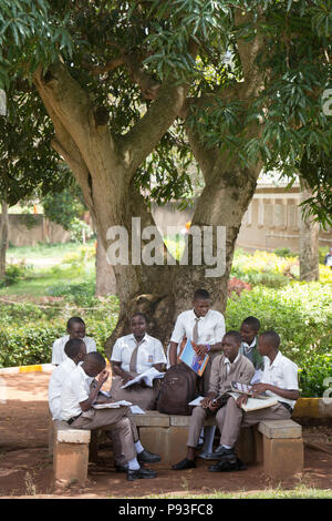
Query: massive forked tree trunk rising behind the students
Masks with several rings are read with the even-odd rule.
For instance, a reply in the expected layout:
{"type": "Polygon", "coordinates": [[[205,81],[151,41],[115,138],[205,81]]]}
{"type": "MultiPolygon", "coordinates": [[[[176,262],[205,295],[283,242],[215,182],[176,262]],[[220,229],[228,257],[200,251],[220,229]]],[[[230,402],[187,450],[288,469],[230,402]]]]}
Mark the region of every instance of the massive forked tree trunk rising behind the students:
{"type": "MultiPolygon", "coordinates": [[[[247,48],[248,45],[246,52],[247,48]]],[[[245,61],[251,63],[248,57],[245,57],[245,61]]],[[[251,72],[248,73],[251,83],[246,86],[246,99],[250,99],[258,89],[257,78],[251,72]]],[[[209,255],[205,247],[206,241],[199,245],[189,236],[186,252],[188,262],[178,264],[172,256],[167,257],[165,245],[155,228],[155,242],[158,245],[154,253],[158,263],[148,265],[142,260],[141,252],[133,254],[133,218],[141,219],[141,229],[145,232],[147,226],[154,226],[155,223],[142,195],[133,185],[133,177],[179,114],[188,85],[181,86],[177,82],[162,85],[156,100],[139,122],[127,134],[114,140],[108,123],[98,121],[96,108],[64,64],[53,64],[46,73],[41,68],[38,69],[34,84],[54,124],[53,147],[76,177],[108,257],[110,248],[112,249],[110,241],[113,241],[113,245],[116,243],[116,229],[117,234],[123,231],[124,235],[127,234],[128,252],[122,252],[122,260],[125,263],[113,262],[120,316],[105,346],[107,355],[111,354],[115,339],[128,333],[129,317],[136,310],[147,315],[148,331],[166,347],[178,313],[191,307],[193,294],[198,287],[208,289],[212,307],[225,311],[235,243],[242,216],[255,192],[259,166],[249,171],[239,167],[237,159],[227,163],[227,157],[225,154],[220,156],[218,149],[205,150],[198,144],[199,137],[188,132],[190,145],[206,181],[193,218],[191,232],[195,231],[196,235],[203,237],[205,232],[212,228],[209,255]],[[220,236],[218,226],[222,227],[220,236]],[[199,262],[190,251],[191,242],[197,246],[199,262]],[[221,272],[208,275],[206,269],[212,268],[210,260],[214,256],[215,263],[220,259],[221,272]]],[[[240,85],[242,89],[243,83],[240,85]]],[[[237,99],[238,89],[232,95],[237,99]]],[[[253,132],[257,132],[256,127],[253,132]]],[[[138,236],[143,252],[143,248],[149,247],[149,237],[139,233],[138,236]]]]}

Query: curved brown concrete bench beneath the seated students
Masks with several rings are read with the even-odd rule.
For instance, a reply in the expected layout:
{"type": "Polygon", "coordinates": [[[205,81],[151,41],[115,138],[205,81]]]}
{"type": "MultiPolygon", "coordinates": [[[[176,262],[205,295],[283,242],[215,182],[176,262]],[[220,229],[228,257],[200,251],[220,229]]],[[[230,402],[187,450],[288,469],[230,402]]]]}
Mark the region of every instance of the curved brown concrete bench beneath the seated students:
{"type": "MultiPolygon", "coordinates": [[[[164,464],[169,467],[185,457],[190,416],[158,411],[132,416],[143,446],[160,454],[164,464]]],[[[205,426],[214,425],[215,418],[205,422],[205,426]]],[[[64,421],[54,421],[55,480],[85,481],[89,453],[96,457],[95,443],[91,447],[91,437],[95,435],[96,431],[73,429],[64,421]]],[[[303,470],[302,427],[293,420],[264,420],[255,427],[242,428],[236,450],[245,463],[263,463],[264,473],[273,479],[303,470]]]]}

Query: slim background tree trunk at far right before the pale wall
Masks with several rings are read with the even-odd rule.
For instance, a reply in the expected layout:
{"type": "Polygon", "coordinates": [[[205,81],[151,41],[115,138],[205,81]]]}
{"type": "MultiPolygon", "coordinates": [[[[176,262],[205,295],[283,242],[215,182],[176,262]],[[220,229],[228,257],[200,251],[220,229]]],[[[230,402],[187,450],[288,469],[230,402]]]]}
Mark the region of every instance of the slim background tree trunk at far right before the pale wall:
{"type": "MultiPolygon", "coordinates": [[[[311,197],[311,192],[301,183],[301,202],[311,197]]],[[[300,280],[319,280],[319,233],[320,224],[312,217],[300,222],[300,280]]]]}

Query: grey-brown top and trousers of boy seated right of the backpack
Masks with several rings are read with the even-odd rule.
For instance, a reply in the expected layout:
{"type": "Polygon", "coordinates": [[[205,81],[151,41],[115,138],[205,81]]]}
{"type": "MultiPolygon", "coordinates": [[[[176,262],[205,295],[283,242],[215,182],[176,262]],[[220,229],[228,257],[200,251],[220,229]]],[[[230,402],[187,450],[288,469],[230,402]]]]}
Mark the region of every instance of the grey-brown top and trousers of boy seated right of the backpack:
{"type": "MultiPolygon", "coordinates": [[[[219,355],[212,361],[209,392],[221,396],[231,390],[231,381],[249,384],[253,374],[255,368],[251,361],[243,355],[238,354],[232,364],[225,355],[219,355]]],[[[215,412],[200,406],[194,408],[188,431],[188,447],[197,446],[204,421],[210,416],[216,416],[216,422],[222,436],[226,407],[224,406],[215,412]]]]}

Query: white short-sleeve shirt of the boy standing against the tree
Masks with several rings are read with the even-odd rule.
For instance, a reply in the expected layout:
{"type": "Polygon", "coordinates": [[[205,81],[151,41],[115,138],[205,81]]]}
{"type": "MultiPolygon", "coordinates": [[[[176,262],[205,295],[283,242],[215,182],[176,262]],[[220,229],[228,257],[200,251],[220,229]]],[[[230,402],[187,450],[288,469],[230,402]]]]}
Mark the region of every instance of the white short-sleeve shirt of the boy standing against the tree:
{"type": "MultiPolygon", "coordinates": [[[[193,330],[196,324],[194,309],[183,311],[177,317],[170,341],[180,343],[184,336],[193,340],[193,330]]],[[[221,313],[209,309],[205,317],[198,320],[197,344],[214,345],[222,340],[225,335],[225,318],[221,313]]]]}

